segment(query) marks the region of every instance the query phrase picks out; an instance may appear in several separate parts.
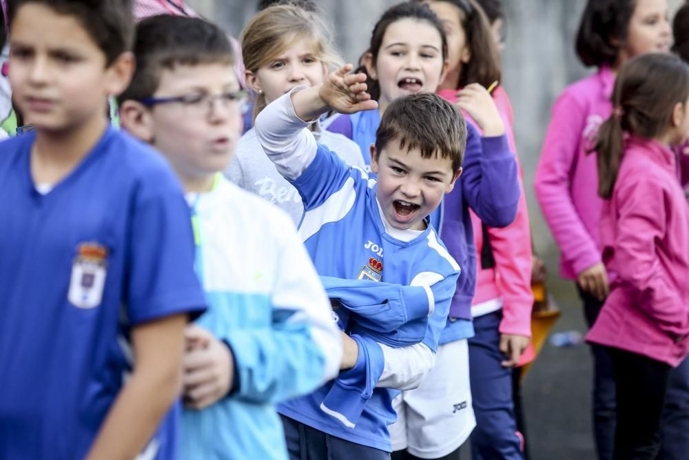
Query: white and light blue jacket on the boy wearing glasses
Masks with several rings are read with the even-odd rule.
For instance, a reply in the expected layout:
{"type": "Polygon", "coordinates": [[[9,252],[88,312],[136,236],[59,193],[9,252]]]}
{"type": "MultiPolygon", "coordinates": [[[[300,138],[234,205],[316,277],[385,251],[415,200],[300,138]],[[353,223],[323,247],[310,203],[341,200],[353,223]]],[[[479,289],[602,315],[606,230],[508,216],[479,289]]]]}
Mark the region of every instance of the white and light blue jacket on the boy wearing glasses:
{"type": "Polygon", "coordinates": [[[239,379],[229,397],[185,410],[184,459],[287,459],[275,404],[336,377],[342,341],[291,219],[218,174],[187,197],[209,309],[196,323],[229,343],[239,379]]]}

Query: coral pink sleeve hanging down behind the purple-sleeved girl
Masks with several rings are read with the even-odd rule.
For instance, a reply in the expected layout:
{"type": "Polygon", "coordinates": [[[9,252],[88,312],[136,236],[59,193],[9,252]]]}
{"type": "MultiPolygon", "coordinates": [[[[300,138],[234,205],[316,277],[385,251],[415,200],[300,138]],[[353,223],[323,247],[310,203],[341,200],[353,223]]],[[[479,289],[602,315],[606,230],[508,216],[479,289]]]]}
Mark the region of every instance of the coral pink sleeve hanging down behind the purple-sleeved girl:
{"type": "Polygon", "coordinates": [[[500,332],[531,337],[531,228],[521,177],[519,182],[522,193],[515,221],[505,228],[489,227],[488,234],[495,259],[497,289],[502,298],[500,332]]]}

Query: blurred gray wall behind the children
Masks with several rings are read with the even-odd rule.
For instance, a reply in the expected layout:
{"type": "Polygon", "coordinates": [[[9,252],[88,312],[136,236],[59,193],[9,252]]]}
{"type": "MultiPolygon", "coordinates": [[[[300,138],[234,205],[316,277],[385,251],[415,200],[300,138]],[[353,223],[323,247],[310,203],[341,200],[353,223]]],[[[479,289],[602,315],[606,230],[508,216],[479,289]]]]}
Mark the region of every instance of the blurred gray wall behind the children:
{"type": "MultiPolygon", "coordinates": [[[[668,0],[672,10],[682,0],[668,0]]],[[[238,37],[256,10],[254,0],[188,0],[189,5],[238,37]]],[[[318,0],[334,24],[343,56],[356,64],[367,48],[373,25],[396,0],[318,0]]],[[[537,252],[557,274],[557,248],[533,196],[533,173],[551,107],[559,92],[593,69],[574,52],[574,37],[585,0],[503,0],[507,41],[502,54],[503,81],[515,109],[515,137],[524,168],[524,188],[537,252]]],[[[555,278],[555,277],[553,277],[555,278]]],[[[557,283],[556,280],[553,280],[557,283]]]]}

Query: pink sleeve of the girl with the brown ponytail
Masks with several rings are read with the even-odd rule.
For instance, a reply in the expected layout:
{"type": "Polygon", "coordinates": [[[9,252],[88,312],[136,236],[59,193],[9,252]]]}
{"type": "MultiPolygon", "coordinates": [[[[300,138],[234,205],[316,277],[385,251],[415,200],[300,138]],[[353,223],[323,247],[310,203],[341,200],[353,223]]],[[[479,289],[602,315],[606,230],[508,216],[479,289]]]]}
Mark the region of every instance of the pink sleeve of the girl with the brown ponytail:
{"type": "MultiPolygon", "coordinates": [[[[657,255],[659,241],[668,241],[666,206],[672,201],[664,186],[641,178],[615,190],[618,220],[615,226],[615,271],[632,288],[639,307],[659,326],[674,334],[686,332],[686,306],[669,286],[657,255]]],[[[670,241],[672,244],[672,241],[670,241]]]]}

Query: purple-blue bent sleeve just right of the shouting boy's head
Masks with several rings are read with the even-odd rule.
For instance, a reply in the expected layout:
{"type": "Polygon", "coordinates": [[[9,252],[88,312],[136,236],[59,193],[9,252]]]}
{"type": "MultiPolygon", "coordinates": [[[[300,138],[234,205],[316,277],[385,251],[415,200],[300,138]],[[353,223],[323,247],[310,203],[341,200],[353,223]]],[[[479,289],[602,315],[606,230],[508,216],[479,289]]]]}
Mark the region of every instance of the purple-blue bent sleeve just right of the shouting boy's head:
{"type": "Polygon", "coordinates": [[[466,123],[462,187],[469,207],[489,227],[502,228],[517,217],[520,188],[517,161],[507,136],[481,137],[466,123]]]}

